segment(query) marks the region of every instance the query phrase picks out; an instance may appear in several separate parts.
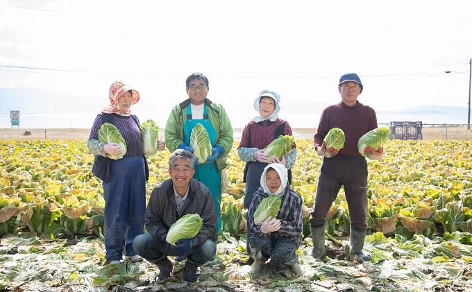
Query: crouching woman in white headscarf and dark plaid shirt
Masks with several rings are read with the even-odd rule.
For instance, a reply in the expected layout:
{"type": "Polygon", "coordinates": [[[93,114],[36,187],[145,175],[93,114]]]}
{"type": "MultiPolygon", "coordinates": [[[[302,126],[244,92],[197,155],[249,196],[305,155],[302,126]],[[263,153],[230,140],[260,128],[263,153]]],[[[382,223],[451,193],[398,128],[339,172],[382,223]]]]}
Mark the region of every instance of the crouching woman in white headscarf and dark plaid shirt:
{"type": "Polygon", "coordinates": [[[302,274],[296,250],[301,243],[303,230],[303,199],[287,184],[287,168],[283,164],[273,163],[265,167],[260,178],[260,187],[254,193],[248,209],[248,226],[251,228],[251,255],[254,264],[252,273],[258,273],[264,263],[271,258],[271,266],[276,270],[292,268],[296,274],[302,274]],[[281,199],[280,210],[276,218],[267,218],[260,225],[254,223],[254,213],[262,199],[271,195],[281,199]]]}

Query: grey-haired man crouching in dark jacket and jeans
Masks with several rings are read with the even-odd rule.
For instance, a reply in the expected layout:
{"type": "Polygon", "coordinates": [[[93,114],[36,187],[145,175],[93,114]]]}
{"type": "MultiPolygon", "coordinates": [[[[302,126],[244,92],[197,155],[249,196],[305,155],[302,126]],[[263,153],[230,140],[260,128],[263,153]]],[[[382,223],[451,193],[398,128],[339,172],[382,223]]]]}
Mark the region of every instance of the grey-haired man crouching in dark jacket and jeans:
{"type": "Polygon", "coordinates": [[[186,257],[185,280],[199,280],[197,268],[210,261],[217,252],[214,243],[217,215],[210,190],[192,178],[195,173],[194,155],[178,149],[169,159],[170,179],[153,189],[146,209],[146,230],[133,241],[138,255],[159,268],[156,281],[165,280],[172,273],[168,256],[186,257]],[[174,246],[166,241],[173,223],[186,214],[199,214],[203,227],[192,239],[180,239],[174,246]]]}

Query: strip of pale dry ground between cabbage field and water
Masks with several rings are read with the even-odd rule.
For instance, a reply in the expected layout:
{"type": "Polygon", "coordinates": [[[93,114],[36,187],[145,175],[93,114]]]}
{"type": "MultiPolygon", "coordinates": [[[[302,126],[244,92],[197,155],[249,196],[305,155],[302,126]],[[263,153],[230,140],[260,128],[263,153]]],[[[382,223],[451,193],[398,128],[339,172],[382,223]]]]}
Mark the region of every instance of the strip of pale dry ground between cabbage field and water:
{"type": "MultiPolygon", "coordinates": [[[[234,129],[235,141],[241,141],[242,128],[234,129]]],[[[292,128],[295,139],[313,139],[316,128],[292,128]]],[[[423,140],[472,140],[472,130],[466,127],[423,127],[421,129],[423,140]]],[[[90,129],[0,129],[0,139],[84,139],[87,140],[90,129]]],[[[159,136],[164,137],[164,129],[160,129],[159,136]]]]}

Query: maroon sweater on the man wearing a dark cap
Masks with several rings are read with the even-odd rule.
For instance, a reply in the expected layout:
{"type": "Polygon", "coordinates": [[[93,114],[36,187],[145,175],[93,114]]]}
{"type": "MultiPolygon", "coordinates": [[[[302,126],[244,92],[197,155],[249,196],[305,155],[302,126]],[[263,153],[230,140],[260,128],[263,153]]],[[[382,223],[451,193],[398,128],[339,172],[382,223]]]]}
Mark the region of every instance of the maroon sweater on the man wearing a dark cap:
{"type": "Polygon", "coordinates": [[[321,113],[318,130],[313,137],[314,148],[318,149],[323,145],[323,139],[330,129],[340,128],[346,136],[346,142],[338,154],[360,156],[357,151],[357,141],[366,132],[377,127],[376,112],[359,101],[352,107],[343,102],[330,105],[321,113]]]}

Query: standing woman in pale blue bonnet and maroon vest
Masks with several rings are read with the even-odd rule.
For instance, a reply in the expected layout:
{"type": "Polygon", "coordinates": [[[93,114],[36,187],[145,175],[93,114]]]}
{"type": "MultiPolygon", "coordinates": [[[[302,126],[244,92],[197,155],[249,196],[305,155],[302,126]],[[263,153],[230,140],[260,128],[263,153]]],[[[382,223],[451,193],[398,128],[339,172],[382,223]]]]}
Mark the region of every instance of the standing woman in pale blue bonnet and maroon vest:
{"type": "MultiPolygon", "coordinates": [[[[260,187],[260,176],[264,167],[269,163],[280,163],[288,169],[288,184],[292,182],[292,167],[296,159],[296,145],[292,145],[292,151],[283,156],[281,160],[274,158],[268,160],[267,154],[264,154],[265,146],[275,140],[280,135],[292,135],[292,128],[289,123],[278,118],[280,111],[280,95],[277,92],[263,90],[258,98],[255,98],[254,109],[259,113],[250,121],[242,131],[241,143],[237,148],[239,158],[246,162],[244,168],[243,182],[246,182],[246,193],[244,196],[244,208],[248,209],[253,200],[253,194],[260,187]]],[[[247,230],[248,253],[251,254],[249,246],[249,237],[251,230],[247,230]]]]}

